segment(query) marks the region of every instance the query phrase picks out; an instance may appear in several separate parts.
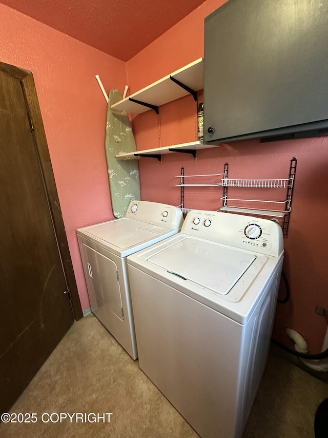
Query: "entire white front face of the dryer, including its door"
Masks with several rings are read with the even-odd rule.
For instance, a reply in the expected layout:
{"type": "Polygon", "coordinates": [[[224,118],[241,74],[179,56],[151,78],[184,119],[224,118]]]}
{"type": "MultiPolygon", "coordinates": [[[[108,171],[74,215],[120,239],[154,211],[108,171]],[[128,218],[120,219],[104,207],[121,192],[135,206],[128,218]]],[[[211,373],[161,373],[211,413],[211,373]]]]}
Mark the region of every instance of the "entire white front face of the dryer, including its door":
{"type": "Polygon", "coordinates": [[[78,241],[92,312],[130,356],[136,359],[138,353],[126,258],[115,256],[79,235],[78,241]],[[87,248],[88,251],[86,251],[87,248]],[[89,256],[91,257],[90,259],[88,258],[89,256]],[[93,281],[90,276],[88,263],[91,265],[92,277],[96,276],[98,280],[101,278],[100,282],[102,283],[104,281],[106,288],[104,288],[103,285],[99,286],[98,281],[93,281]],[[115,265],[117,271],[112,269],[115,265]],[[110,267],[110,272],[108,272],[107,266],[110,267]],[[117,279],[117,272],[119,280],[117,279]],[[103,275],[104,278],[102,277],[103,275]],[[120,291],[120,294],[118,294],[118,291],[120,291]],[[115,304],[112,298],[108,298],[111,297],[112,294],[115,296],[115,304]],[[102,310],[99,310],[99,302],[105,302],[105,297],[107,297],[108,302],[101,307],[102,310]],[[121,310],[119,310],[120,302],[123,314],[121,310]],[[97,310],[94,310],[96,307],[97,310]]]}

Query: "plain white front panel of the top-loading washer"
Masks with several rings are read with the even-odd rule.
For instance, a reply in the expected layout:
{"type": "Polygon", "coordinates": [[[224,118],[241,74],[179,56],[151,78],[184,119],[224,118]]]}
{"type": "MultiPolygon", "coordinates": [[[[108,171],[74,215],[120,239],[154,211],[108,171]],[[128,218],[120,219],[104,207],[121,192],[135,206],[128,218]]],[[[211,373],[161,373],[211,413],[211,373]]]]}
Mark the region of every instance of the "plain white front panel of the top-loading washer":
{"type": "Polygon", "coordinates": [[[202,438],[234,437],[245,326],[128,268],[141,370],[202,438]]]}

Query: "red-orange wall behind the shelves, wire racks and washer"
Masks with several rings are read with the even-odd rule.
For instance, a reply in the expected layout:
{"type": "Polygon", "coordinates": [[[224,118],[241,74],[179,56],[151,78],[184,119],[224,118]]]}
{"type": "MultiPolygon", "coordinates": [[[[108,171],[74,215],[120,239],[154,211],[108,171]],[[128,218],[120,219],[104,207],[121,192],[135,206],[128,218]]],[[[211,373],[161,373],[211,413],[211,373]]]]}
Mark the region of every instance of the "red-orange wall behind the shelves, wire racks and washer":
{"type": "MultiPolygon", "coordinates": [[[[151,84],[203,56],[204,18],[224,3],[207,0],[186,18],[138,53],[127,63],[130,92],[151,84]]],[[[233,55],[233,54],[232,54],[233,55]]],[[[222,66],[224,68],[224,66],[222,66]]],[[[202,101],[202,93],[199,93],[202,101]]],[[[206,105],[206,102],[205,102],[206,105]]],[[[197,104],[185,97],[163,105],[159,116],[147,111],[133,117],[138,149],[179,144],[197,139],[197,104]]],[[[284,328],[291,327],[308,341],[311,353],[321,351],[326,322],[315,313],[317,305],[328,308],[328,138],[310,138],[260,144],[258,140],[222,144],[189,154],[140,158],[141,198],[180,204],[175,187],[181,166],[186,175],[223,172],[229,163],[230,178],[288,178],[290,161],[297,157],[292,213],[284,238],[283,270],[290,282],[291,298],[277,304],[274,338],[292,347],[284,328]]],[[[216,210],[222,206],[221,188],[185,189],[186,208],[216,210]]],[[[263,192],[253,199],[263,199],[263,192]]],[[[284,196],[284,195],[283,195],[284,196]]],[[[265,199],[265,198],[264,198],[265,199]]],[[[279,297],[284,298],[281,283],[279,297]]]]}

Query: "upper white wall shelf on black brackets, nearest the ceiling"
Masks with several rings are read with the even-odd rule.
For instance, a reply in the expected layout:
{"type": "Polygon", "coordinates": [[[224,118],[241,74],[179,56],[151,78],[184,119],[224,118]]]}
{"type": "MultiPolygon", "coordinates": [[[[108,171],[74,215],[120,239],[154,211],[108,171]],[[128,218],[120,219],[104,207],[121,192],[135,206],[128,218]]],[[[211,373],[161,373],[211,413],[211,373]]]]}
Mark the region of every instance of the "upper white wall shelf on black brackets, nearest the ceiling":
{"type": "Polygon", "coordinates": [[[132,102],[131,99],[158,107],[183,96],[187,96],[187,94],[190,92],[176,84],[171,77],[194,91],[202,90],[204,87],[203,59],[199,58],[185,67],[182,67],[179,70],[167,75],[165,78],[154,82],[148,87],[142,88],[142,90],[137,91],[131,94],[131,96],[115,103],[111,108],[118,109],[120,111],[131,112],[134,114],[140,114],[142,112],[149,111],[151,108],[136,102],[132,102]]]}

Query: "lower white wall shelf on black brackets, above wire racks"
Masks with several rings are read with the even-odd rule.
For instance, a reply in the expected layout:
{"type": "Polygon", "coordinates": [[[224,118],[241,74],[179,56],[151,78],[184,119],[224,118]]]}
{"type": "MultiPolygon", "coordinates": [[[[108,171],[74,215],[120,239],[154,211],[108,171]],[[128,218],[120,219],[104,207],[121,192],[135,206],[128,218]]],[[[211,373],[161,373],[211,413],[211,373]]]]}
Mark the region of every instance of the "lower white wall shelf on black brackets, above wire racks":
{"type": "Polygon", "coordinates": [[[118,154],[115,155],[115,158],[119,160],[126,160],[126,159],[135,159],[138,157],[149,157],[153,156],[154,158],[158,158],[158,156],[165,155],[165,154],[173,154],[175,152],[189,152],[194,151],[196,153],[196,150],[199,149],[210,149],[213,147],[218,147],[218,145],[213,144],[202,144],[199,141],[193,141],[190,143],[182,143],[182,144],[176,144],[172,146],[164,146],[164,147],[156,147],[155,149],[145,149],[145,150],[137,150],[135,152],[129,152],[126,154],[118,154]]]}

